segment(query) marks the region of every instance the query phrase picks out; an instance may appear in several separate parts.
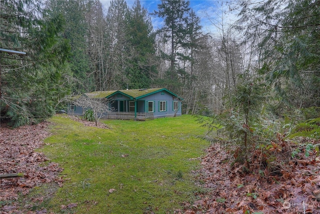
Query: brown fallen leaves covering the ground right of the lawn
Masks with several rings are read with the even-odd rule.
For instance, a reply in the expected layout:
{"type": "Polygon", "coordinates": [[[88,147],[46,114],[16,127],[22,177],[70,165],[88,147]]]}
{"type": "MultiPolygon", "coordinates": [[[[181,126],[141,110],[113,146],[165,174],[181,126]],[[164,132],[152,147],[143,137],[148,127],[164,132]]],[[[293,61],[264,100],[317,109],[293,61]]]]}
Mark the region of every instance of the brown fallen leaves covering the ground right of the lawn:
{"type": "MultiPolygon", "coordinates": [[[[320,143],[306,138],[299,142],[320,143]]],[[[278,137],[270,148],[253,150],[247,168],[245,163],[231,164],[230,150],[211,145],[201,158],[201,169],[194,172],[206,191],[175,213],[319,213],[319,154],[314,149],[305,156],[302,149],[292,157],[297,148],[278,137]]]]}

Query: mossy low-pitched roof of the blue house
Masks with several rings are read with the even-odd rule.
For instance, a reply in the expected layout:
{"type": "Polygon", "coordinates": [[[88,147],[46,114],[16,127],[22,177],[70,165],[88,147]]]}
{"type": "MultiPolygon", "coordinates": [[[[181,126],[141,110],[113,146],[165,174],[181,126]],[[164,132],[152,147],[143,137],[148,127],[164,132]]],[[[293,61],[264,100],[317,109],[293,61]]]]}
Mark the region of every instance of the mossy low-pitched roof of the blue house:
{"type": "Polygon", "coordinates": [[[183,100],[176,94],[170,92],[169,90],[165,88],[149,88],[149,89],[130,89],[130,90],[113,90],[113,91],[94,91],[91,93],[85,93],[86,96],[90,98],[109,98],[113,96],[114,94],[122,94],[125,96],[128,96],[130,99],[140,99],[145,96],[160,92],[160,91],[166,91],[167,93],[171,94],[172,96],[177,97],[180,100],[183,100]]]}

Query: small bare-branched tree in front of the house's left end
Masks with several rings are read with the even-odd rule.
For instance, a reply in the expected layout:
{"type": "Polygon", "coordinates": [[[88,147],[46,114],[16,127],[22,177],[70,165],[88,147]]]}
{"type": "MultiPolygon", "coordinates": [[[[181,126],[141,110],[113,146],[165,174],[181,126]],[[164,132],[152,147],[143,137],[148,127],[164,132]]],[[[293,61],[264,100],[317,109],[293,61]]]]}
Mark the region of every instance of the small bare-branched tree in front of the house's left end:
{"type": "Polygon", "coordinates": [[[97,122],[103,116],[103,113],[111,110],[107,102],[108,101],[105,98],[91,98],[85,95],[72,101],[74,105],[80,106],[83,109],[86,109],[89,114],[92,114],[90,116],[86,115],[86,119],[93,117],[92,120],[94,120],[95,126],[97,126],[97,122]]]}

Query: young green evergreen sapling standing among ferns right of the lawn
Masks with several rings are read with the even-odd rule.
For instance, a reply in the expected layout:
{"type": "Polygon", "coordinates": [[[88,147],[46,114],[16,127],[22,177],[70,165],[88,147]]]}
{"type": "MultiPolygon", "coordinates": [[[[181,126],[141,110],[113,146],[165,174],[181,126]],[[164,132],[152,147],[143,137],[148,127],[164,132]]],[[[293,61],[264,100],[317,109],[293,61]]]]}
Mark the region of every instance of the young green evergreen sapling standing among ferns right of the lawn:
{"type": "MultiPolygon", "coordinates": [[[[267,100],[268,86],[260,79],[250,79],[248,75],[239,76],[235,91],[225,97],[226,110],[212,117],[206,123],[208,133],[219,128],[227,138],[226,145],[234,152],[235,161],[249,165],[249,153],[257,144],[267,144],[266,138],[273,137],[273,120],[265,113],[263,103],[267,100]],[[218,125],[214,125],[218,124],[218,125]],[[271,136],[272,135],[272,136],[271,136]]],[[[217,142],[224,141],[219,138],[217,142]]],[[[213,140],[212,140],[213,142],[213,140]]]]}

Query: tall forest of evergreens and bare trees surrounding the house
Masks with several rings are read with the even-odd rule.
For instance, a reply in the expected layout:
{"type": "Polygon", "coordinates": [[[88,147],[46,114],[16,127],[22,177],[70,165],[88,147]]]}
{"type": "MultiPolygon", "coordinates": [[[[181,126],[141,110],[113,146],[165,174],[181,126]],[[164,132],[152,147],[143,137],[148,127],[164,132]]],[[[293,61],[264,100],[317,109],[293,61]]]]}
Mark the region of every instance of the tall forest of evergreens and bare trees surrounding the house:
{"type": "Polygon", "coordinates": [[[167,88],[184,98],[184,114],[227,112],[242,128],[256,115],[314,116],[320,2],[220,4],[228,9],[210,34],[188,1],[161,1],[151,14],[139,1],[107,10],[99,1],[0,1],[0,47],[26,53],[1,52],[1,120],[37,123],[65,108],[65,96],[126,87],[167,88]]]}

